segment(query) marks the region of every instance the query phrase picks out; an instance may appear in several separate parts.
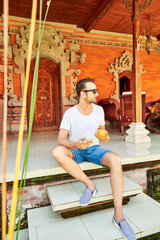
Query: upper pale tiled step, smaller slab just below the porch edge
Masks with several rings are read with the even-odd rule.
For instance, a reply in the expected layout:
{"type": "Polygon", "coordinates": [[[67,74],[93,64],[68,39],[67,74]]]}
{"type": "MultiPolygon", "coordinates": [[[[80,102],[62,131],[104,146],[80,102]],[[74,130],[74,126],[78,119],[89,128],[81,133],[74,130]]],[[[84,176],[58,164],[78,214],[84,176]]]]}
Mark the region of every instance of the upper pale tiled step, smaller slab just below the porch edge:
{"type": "MultiPolygon", "coordinates": [[[[94,179],[93,182],[97,186],[98,192],[92,197],[90,205],[113,200],[109,177],[94,179]]],[[[142,192],[142,188],[138,184],[126,177],[123,178],[123,184],[123,197],[132,197],[142,192]]],[[[79,199],[84,190],[85,186],[81,182],[47,187],[53,211],[63,211],[80,207],[79,199]]]]}

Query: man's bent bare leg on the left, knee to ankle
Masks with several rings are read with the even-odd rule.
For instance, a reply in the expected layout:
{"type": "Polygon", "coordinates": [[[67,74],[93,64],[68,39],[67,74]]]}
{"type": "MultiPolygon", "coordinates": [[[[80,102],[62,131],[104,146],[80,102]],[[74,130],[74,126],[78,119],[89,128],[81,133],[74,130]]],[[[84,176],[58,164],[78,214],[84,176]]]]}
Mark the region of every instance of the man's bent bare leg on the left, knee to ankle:
{"type": "Polygon", "coordinates": [[[60,166],[70,175],[83,182],[87,188],[92,191],[95,190],[94,183],[87,177],[87,175],[82,171],[79,165],[72,159],[73,153],[71,150],[58,146],[52,151],[53,157],[60,164],[60,166]]]}

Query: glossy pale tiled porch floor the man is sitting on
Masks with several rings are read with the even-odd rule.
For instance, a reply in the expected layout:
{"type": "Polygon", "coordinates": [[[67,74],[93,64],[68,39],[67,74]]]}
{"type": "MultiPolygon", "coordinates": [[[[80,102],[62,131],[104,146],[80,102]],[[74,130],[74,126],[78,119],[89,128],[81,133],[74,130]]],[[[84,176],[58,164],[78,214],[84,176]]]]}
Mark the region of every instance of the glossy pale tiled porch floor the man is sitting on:
{"type": "MultiPolygon", "coordinates": [[[[58,132],[32,133],[27,178],[64,173],[64,170],[52,157],[52,149],[57,146],[57,135],[58,132]]],[[[109,135],[109,142],[101,143],[101,146],[113,150],[113,152],[120,155],[123,165],[160,160],[159,134],[150,133],[151,143],[144,144],[133,144],[124,141],[124,136],[121,136],[117,129],[109,130],[109,135]]],[[[6,181],[14,180],[17,142],[17,136],[8,136],[6,181]]],[[[24,136],[19,179],[21,177],[26,143],[27,136],[24,136]]],[[[2,152],[2,144],[0,144],[0,152],[2,152]]],[[[0,165],[2,166],[2,155],[0,155],[0,165]]],[[[101,166],[88,162],[84,162],[80,166],[83,170],[101,168],[101,166]]],[[[0,168],[0,182],[2,182],[2,168],[0,168]]]]}

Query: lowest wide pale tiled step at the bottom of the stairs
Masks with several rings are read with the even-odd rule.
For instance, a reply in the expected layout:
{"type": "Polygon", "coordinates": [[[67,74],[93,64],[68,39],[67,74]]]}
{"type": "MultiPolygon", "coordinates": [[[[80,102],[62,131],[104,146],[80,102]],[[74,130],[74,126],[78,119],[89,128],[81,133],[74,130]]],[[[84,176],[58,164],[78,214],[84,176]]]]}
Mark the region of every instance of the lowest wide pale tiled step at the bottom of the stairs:
{"type": "MultiPolygon", "coordinates": [[[[123,213],[136,239],[160,232],[160,204],[146,194],[132,197],[123,213]]],[[[29,240],[115,240],[124,239],[112,223],[114,209],[63,219],[51,206],[27,211],[29,240]]]]}

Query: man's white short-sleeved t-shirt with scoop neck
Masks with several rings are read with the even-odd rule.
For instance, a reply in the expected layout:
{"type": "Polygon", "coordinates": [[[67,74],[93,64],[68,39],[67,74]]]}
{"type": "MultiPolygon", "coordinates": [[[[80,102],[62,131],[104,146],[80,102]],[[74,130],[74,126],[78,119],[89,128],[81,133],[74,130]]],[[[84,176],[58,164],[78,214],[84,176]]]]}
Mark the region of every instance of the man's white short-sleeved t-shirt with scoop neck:
{"type": "Polygon", "coordinates": [[[60,129],[69,131],[69,139],[73,142],[78,141],[82,137],[94,138],[93,145],[99,144],[95,132],[99,126],[105,124],[103,108],[92,104],[93,111],[89,115],[80,113],[76,107],[69,108],[65,111],[61,121],[60,129]]]}

